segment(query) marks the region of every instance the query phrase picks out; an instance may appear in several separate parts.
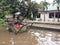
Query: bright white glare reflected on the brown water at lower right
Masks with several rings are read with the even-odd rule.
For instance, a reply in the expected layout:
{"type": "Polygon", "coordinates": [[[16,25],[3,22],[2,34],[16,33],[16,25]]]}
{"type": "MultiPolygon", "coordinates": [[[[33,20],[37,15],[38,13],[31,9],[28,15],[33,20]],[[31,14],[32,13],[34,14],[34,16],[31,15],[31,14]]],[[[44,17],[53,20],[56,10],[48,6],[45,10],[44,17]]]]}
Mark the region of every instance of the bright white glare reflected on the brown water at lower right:
{"type": "Polygon", "coordinates": [[[44,30],[31,30],[31,34],[38,41],[37,45],[60,45],[60,33],[44,30]]]}

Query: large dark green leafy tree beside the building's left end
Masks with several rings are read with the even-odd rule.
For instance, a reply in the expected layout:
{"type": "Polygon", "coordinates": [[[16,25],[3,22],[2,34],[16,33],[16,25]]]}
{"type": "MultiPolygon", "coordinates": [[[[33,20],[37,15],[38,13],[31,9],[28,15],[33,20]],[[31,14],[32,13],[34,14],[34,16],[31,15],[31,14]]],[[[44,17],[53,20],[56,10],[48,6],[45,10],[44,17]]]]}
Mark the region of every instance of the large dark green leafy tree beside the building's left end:
{"type": "MultiPolygon", "coordinates": [[[[38,8],[41,8],[41,6],[40,6],[40,4],[37,4],[36,2],[31,2],[31,1],[26,1],[27,2],[27,4],[25,4],[25,2],[22,2],[22,3],[24,3],[24,8],[26,8],[27,9],[27,11],[24,11],[24,9],[21,11],[21,12],[23,12],[24,14],[22,14],[22,15],[27,15],[27,18],[31,18],[31,13],[33,14],[33,15],[35,15],[36,13],[34,13],[35,12],[35,10],[36,9],[38,9],[38,8]]],[[[22,6],[20,6],[21,8],[22,8],[22,6]]],[[[21,9],[20,8],[20,9],[21,9]]]]}

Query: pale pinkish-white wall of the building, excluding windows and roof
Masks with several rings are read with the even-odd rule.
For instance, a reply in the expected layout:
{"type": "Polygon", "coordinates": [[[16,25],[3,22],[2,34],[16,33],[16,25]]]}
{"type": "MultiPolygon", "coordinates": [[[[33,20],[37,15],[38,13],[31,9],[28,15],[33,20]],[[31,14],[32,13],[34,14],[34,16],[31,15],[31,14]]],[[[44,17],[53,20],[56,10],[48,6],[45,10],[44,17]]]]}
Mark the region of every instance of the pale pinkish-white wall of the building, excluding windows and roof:
{"type": "MultiPolygon", "coordinates": [[[[36,21],[44,21],[44,15],[45,15],[45,21],[49,21],[49,22],[57,22],[58,18],[49,18],[49,12],[48,13],[41,13],[40,18],[36,17],[36,21]]],[[[60,20],[60,18],[59,18],[60,20]]]]}

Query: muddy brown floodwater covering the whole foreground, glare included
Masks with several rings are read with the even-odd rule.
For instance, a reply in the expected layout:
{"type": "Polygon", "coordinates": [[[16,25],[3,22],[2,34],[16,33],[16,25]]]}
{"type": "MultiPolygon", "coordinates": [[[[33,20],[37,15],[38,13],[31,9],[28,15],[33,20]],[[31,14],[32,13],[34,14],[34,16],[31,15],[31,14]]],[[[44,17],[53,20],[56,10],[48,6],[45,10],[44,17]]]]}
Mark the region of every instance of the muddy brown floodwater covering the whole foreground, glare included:
{"type": "Polygon", "coordinates": [[[15,35],[0,28],[0,45],[60,45],[60,32],[30,29],[15,35]]]}

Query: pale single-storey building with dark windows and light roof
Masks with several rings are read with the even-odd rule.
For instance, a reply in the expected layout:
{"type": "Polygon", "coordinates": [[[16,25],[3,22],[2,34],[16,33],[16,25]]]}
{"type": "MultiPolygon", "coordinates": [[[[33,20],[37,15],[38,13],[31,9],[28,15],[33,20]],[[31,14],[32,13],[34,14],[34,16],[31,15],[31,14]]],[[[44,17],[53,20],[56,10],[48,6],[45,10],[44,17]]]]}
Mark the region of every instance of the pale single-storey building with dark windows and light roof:
{"type": "Polygon", "coordinates": [[[59,21],[60,20],[60,11],[57,11],[56,5],[48,6],[47,11],[38,11],[38,15],[36,15],[36,21],[59,21]]]}

